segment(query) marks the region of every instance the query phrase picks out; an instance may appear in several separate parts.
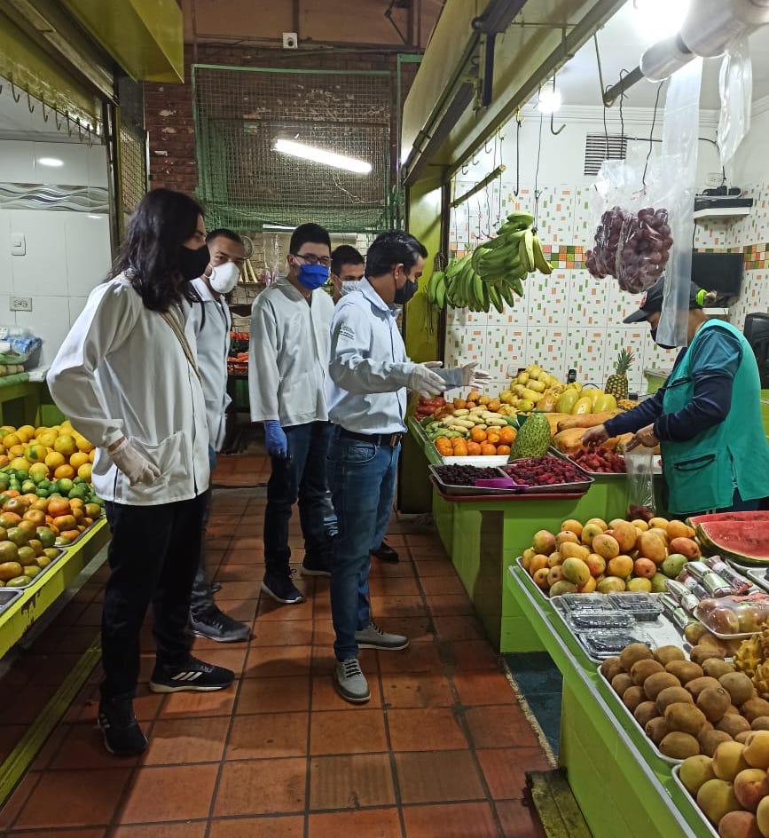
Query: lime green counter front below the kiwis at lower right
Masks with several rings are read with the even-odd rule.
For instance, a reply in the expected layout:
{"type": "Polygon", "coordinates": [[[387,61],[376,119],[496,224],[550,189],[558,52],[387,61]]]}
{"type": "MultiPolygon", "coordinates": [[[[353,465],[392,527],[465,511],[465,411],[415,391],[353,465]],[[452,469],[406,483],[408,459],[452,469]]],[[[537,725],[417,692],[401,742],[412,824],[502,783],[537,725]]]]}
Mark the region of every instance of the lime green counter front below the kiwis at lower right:
{"type": "Polygon", "coordinates": [[[678,838],[711,833],[671,765],[620,707],[597,664],[555,617],[527,573],[506,568],[506,592],[563,676],[559,762],[593,838],[678,838]]]}

